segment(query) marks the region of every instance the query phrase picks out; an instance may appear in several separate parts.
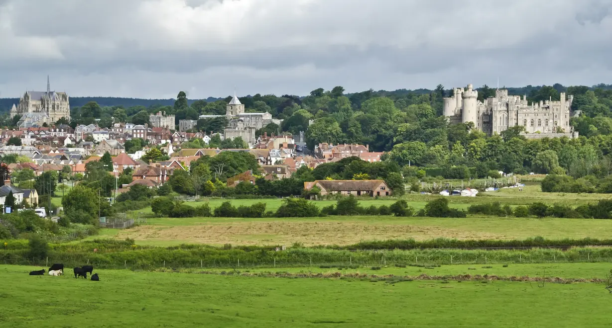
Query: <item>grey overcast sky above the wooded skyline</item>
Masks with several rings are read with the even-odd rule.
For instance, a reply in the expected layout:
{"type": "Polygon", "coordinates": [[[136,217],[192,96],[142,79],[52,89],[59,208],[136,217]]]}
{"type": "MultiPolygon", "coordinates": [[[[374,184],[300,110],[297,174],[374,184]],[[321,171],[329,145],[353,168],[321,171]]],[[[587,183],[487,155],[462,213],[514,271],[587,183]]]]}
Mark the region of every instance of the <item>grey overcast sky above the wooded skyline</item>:
{"type": "Polygon", "coordinates": [[[610,0],[0,0],[0,98],[612,83],[610,0]]]}

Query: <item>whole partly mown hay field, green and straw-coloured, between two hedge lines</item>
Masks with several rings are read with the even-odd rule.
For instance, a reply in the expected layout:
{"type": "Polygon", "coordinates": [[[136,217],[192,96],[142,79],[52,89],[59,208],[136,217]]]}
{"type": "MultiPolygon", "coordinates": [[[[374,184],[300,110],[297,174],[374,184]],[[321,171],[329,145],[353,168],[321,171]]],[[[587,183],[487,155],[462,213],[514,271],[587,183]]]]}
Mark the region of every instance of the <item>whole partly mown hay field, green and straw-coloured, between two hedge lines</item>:
{"type": "MultiPolygon", "coordinates": [[[[136,244],[171,246],[182,243],[305,246],[348,245],[383,239],[426,240],[609,238],[612,220],[506,217],[335,216],[310,218],[156,218],[125,230],[102,229],[103,238],[132,238],[136,244]]],[[[93,236],[91,238],[100,238],[93,236]]]]}

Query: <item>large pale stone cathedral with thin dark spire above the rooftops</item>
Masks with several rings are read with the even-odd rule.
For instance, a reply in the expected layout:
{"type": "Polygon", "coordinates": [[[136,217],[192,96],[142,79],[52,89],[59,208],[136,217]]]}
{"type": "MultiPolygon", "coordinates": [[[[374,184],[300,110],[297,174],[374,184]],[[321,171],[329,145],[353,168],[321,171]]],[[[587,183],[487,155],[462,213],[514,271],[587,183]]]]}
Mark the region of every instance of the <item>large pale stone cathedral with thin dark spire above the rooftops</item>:
{"type": "Polygon", "coordinates": [[[20,127],[53,125],[60,118],[70,120],[70,103],[65,92],[51,91],[47,76],[47,92],[26,91],[19,104],[10,110],[10,116],[21,115],[20,127]]]}

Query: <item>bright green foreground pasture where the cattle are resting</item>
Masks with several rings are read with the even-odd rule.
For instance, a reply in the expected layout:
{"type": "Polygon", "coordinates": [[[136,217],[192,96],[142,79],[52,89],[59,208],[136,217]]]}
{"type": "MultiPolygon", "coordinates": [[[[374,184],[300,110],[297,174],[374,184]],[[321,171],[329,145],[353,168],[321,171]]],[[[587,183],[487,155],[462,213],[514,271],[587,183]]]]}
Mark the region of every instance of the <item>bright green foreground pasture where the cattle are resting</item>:
{"type": "Polygon", "coordinates": [[[597,283],[369,282],[0,266],[2,327],[605,327],[597,283]],[[579,309],[586,309],[579,310],[579,309]],[[570,315],[571,313],[571,315],[570,315]]]}

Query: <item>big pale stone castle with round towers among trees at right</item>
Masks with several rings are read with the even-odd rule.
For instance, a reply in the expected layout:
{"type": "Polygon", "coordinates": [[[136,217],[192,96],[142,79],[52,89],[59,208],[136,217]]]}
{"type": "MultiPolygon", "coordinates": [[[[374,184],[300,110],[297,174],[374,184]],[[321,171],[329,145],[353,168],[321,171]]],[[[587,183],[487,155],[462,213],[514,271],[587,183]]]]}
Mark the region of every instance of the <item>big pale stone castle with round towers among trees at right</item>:
{"type": "Polygon", "coordinates": [[[566,98],[562,92],[558,101],[528,104],[526,96],[521,99],[520,96],[509,96],[506,89],[498,89],[495,96],[485,99],[484,103],[477,98],[478,91],[471,84],[466,90],[455,88],[452,97],[444,98],[442,115],[452,124],[472,122],[476,129],[489,136],[501,133],[509,126],[523,125],[524,136],[531,139],[578,137],[578,131],[573,131],[570,126],[573,95],[566,98]]]}

